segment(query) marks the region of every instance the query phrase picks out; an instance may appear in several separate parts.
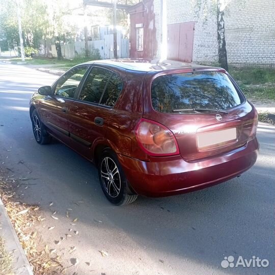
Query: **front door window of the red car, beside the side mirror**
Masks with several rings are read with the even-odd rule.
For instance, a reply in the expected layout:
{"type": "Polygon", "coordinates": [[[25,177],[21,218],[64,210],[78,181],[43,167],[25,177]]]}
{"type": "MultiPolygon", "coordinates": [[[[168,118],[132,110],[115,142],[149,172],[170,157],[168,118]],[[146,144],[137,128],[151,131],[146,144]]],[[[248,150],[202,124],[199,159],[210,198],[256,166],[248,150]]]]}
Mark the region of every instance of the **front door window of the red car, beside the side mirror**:
{"type": "Polygon", "coordinates": [[[77,67],[63,75],[57,82],[54,95],[66,98],[74,98],[79,83],[88,68],[89,66],[77,67]]]}

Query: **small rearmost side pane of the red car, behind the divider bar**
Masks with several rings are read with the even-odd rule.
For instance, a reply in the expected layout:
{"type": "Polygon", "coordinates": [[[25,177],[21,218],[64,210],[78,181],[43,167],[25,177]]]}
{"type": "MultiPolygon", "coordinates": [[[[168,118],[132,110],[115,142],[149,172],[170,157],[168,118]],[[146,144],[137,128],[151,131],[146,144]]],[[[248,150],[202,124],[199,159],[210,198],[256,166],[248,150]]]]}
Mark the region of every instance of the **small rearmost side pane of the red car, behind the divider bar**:
{"type": "Polygon", "coordinates": [[[119,97],[122,87],[123,87],[122,79],[116,73],[113,73],[112,77],[110,78],[107,84],[107,87],[102,96],[100,104],[113,107],[119,97]]]}

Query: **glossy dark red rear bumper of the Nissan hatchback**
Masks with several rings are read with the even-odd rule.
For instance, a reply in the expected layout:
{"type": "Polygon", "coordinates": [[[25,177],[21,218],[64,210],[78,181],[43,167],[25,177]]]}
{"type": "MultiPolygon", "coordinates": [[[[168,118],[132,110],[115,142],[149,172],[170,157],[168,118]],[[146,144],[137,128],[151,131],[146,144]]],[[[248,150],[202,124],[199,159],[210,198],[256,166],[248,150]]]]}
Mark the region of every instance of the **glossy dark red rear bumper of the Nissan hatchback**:
{"type": "Polygon", "coordinates": [[[245,146],[211,159],[187,162],[182,158],[149,162],[119,155],[131,187],[139,195],[165,197],[206,188],[250,169],[259,144],[255,137],[245,146]]]}

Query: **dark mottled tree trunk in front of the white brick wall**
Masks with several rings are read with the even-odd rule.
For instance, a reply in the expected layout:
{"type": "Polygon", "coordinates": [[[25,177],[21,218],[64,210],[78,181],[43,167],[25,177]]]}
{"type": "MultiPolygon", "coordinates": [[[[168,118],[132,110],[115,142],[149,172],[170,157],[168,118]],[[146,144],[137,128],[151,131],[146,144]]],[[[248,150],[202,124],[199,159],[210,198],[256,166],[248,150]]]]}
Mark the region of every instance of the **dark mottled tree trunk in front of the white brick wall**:
{"type": "Polygon", "coordinates": [[[221,7],[221,0],[217,0],[217,42],[218,42],[218,63],[219,65],[228,70],[227,51],[225,40],[225,12],[221,7]]]}

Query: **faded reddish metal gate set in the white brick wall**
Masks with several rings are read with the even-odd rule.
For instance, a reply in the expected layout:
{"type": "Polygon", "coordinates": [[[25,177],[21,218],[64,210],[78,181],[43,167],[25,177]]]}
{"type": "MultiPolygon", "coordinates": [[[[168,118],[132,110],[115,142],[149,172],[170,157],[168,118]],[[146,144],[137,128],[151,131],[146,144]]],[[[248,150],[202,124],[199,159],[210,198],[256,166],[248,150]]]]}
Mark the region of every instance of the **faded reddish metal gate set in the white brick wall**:
{"type": "Polygon", "coordinates": [[[195,22],[168,24],[167,58],[192,62],[195,22]]]}

